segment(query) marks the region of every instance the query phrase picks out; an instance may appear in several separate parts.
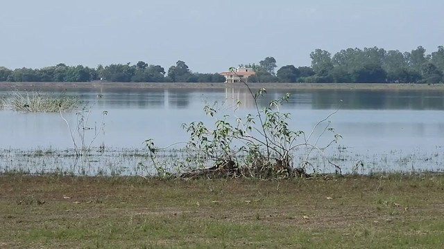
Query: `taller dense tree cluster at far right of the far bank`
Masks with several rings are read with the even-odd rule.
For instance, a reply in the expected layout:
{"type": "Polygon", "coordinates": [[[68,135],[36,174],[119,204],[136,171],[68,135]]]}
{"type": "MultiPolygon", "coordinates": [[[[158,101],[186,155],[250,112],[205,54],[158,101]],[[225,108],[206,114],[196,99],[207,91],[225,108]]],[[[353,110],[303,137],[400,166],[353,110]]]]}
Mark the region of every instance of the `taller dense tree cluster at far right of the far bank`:
{"type": "Polygon", "coordinates": [[[325,50],[316,49],[310,57],[315,75],[301,75],[298,82],[438,83],[443,81],[442,46],[439,46],[438,51],[432,55],[426,55],[425,48],[418,46],[407,53],[398,50],[386,51],[377,47],[364,50],[347,48],[333,57],[325,50]],[[430,73],[428,63],[435,66],[436,69],[432,68],[433,73],[430,73]]]}

